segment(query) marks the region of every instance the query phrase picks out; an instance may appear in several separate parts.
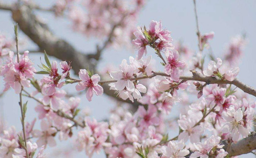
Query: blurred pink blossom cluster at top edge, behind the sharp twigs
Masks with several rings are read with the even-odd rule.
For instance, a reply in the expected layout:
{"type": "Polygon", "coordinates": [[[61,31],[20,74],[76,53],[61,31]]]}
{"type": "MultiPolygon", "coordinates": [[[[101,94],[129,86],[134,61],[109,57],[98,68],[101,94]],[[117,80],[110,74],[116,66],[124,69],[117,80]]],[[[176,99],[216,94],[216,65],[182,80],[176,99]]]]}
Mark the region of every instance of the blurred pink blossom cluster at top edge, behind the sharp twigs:
{"type": "Polygon", "coordinates": [[[73,30],[87,37],[112,36],[111,45],[130,45],[136,29],[138,13],[145,0],[129,1],[74,1],[57,0],[54,10],[57,16],[67,10],[73,30]],[[112,33],[113,32],[113,33],[112,33]]]}

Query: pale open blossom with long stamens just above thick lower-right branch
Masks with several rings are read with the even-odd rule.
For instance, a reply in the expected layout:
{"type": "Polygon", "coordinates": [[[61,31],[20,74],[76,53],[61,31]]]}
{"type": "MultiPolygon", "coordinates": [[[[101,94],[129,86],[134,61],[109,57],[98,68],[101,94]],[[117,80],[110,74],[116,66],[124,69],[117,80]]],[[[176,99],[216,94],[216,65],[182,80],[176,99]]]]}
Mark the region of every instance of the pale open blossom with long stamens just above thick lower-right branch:
{"type": "Polygon", "coordinates": [[[240,135],[247,137],[250,134],[249,130],[244,127],[241,108],[235,110],[233,106],[230,106],[227,112],[222,113],[222,117],[226,120],[222,131],[223,133],[230,133],[233,142],[238,142],[240,135]]]}

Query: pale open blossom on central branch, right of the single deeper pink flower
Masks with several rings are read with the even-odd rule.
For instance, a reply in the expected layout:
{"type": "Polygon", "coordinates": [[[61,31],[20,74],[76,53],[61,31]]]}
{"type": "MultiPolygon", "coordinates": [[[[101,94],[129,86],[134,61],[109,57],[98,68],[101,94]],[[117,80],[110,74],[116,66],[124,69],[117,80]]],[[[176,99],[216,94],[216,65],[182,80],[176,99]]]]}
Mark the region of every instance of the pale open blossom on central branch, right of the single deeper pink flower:
{"type": "Polygon", "coordinates": [[[110,72],[111,77],[117,81],[115,83],[115,88],[117,90],[120,91],[124,88],[126,88],[130,92],[133,92],[135,90],[134,83],[130,81],[130,79],[133,78],[135,69],[136,68],[134,65],[128,65],[127,61],[124,59],[119,66],[119,71],[110,72]]]}

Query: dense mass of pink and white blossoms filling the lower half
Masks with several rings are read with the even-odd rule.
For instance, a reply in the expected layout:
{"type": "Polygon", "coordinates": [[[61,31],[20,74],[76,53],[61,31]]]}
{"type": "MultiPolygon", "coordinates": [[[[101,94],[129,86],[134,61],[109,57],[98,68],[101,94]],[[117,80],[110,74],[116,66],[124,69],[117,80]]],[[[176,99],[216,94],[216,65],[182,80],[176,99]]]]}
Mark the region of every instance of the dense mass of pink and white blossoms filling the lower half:
{"type": "MultiPolygon", "coordinates": [[[[98,8],[99,3],[110,2],[92,1],[91,10],[98,8]]],[[[254,125],[256,102],[230,85],[239,73],[238,67],[229,68],[230,65],[222,64],[217,58],[203,69],[204,63],[198,56],[200,60],[196,57],[193,61],[193,75],[227,84],[208,85],[200,80],[186,80],[183,74],[187,73],[189,64],[182,60],[185,59],[182,53],[188,54],[188,50],[173,45],[170,32],[163,29],[161,21],[152,21],[149,28],[138,30],[133,40],[138,56],[130,57],[129,62],[123,59],[116,70],[108,70],[109,81],[102,81],[102,76],[86,69],[80,69],[79,79],[73,78],[71,63],[50,62],[46,52],[46,64],[42,63],[41,70],[36,71],[28,51],[16,56],[13,51],[2,51],[9,54],[0,69],[5,91],[12,88],[15,93],[37,102],[35,112],[40,129],[34,129],[36,120],[26,122],[24,130],[19,132],[13,126],[0,128],[1,157],[32,158],[39,149],[37,158],[45,158],[44,149],[56,146],[57,139],[73,138],[75,148],[89,157],[103,150],[108,158],[224,158],[228,152],[223,142],[238,143],[248,137],[254,125]],[[147,47],[156,51],[164,72],[155,70],[153,56],[146,56],[147,47]],[[195,66],[199,61],[201,65],[195,66]],[[35,74],[44,76],[35,80],[35,74]],[[118,97],[136,101],[138,107],[134,104],[132,112],[131,107],[117,104],[108,120],[97,121],[88,111],[80,111],[79,97],[70,96],[63,90],[62,87],[68,84],[76,84],[76,91],[86,92],[88,101],[94,94],[102,95],[102,85],[108,84],[118,97]],[[35,88],[32,93],[26,91],[31,85],[35,88]],[[197,100],[188,98],[188,94],[193,96],[197,91],[197,100]],[[174,107],[180,108],[179,115],[175,114],[174,107]],[[177,118],[172,120],[170,116],[177,118]],[[173,133],[168,134],[170,129],[173,133]]],[[[201,37],[202,48],[209,46],[208,40],[213,35],[209,33],[201,37]]],[[[20,107],[24,116],[27,103],[20,103],[20,107]]]]}

